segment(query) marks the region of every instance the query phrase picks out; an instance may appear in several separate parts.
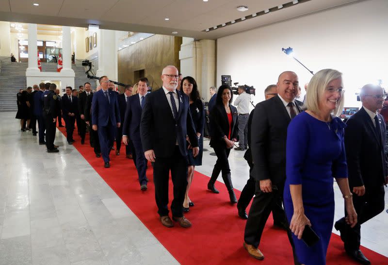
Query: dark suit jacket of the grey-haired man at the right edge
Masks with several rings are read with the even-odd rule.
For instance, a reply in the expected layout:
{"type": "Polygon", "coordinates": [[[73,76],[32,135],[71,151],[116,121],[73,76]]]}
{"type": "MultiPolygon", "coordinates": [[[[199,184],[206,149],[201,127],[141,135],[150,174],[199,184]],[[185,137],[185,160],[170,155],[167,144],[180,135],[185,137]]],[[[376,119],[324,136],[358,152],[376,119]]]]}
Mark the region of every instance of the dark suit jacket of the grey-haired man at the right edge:
{"type": "Polygon", "coordinates": [[[346,121],[345,151],[351,190],[362,185],[379,187],[388,175],[385,121],[380,114],[377,117],[380,135],[363,107],[346,121]]]}

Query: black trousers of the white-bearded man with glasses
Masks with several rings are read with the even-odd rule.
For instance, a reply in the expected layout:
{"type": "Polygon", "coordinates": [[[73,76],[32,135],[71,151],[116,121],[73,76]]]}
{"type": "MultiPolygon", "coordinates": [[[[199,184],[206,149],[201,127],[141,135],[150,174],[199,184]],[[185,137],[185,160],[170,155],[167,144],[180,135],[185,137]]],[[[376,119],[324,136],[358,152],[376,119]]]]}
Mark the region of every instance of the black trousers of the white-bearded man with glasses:
{"type": "Polygon", "coordinates": [[[175,146],[171,157],[157,157],[153,163],[155,200],[160,216],[168,215],[168,179],[171,171],[171,180],[174,184],[174,199],[171,203],[171,212],[174,217],[182,217],[182,204],[185,199],[187,186],[187,158],[182,156],[179,147],[175,146]]]}

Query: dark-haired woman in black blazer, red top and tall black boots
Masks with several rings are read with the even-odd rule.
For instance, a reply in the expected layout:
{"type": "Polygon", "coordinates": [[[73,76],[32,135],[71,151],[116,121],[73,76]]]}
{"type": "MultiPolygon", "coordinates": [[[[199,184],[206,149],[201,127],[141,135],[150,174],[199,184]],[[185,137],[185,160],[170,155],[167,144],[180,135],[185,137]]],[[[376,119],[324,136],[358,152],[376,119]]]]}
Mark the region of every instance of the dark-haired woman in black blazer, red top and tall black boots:
{"type": "Polygon", "coordinates": [[[214,149],[217,155],[217,162],[214,165],[211,178],[208,183],[208,189],[214,193],[219,193],[214,183],[222,172],[222,179],[229,192],[231,203],[237,203],[233,191],[233,184],[230,178],[229,157],[230,149],[233,148],[234,142],[237,141],[238,135],[238,118],[237,108],[232,103],[233,92],[230,86],[221,85],[217,91],[215,106],[210,112],[210,147],[214,149]]]}

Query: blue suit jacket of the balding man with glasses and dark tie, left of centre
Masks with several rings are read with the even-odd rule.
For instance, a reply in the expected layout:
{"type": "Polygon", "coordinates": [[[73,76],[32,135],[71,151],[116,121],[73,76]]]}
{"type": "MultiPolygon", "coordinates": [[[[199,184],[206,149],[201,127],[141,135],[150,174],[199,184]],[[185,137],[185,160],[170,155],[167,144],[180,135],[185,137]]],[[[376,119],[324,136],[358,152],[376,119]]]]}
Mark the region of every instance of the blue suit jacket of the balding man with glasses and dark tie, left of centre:
{"type": "Polygon", "coordinates": [[[116,126],[120,122],[117,93],[109,90],[109,102],[101,89],[93,95],[92,100],[92,124],[97,126],[116,126]]]}

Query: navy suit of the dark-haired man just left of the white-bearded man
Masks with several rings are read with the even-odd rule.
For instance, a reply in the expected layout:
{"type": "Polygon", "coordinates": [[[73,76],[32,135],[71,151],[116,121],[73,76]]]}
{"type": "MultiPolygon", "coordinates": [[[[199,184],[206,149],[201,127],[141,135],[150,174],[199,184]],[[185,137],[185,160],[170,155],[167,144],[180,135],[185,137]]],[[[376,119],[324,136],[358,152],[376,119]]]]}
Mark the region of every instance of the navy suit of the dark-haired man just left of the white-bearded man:
{"type": "MultiPolygon", "coordinates": [[[[144,98],[146,100],[146,98],[144,98]]],[[[134,152],[136,153],[136,169],[139,176],[140,185],[147,183],[146,166],[147,160],[144,156],[142,140],[140,137],[140,121],[142,107],[140,105],[139,94],[129,97],[123,122],[123,135],[127,135],[132,141],[134,152]]]]}

